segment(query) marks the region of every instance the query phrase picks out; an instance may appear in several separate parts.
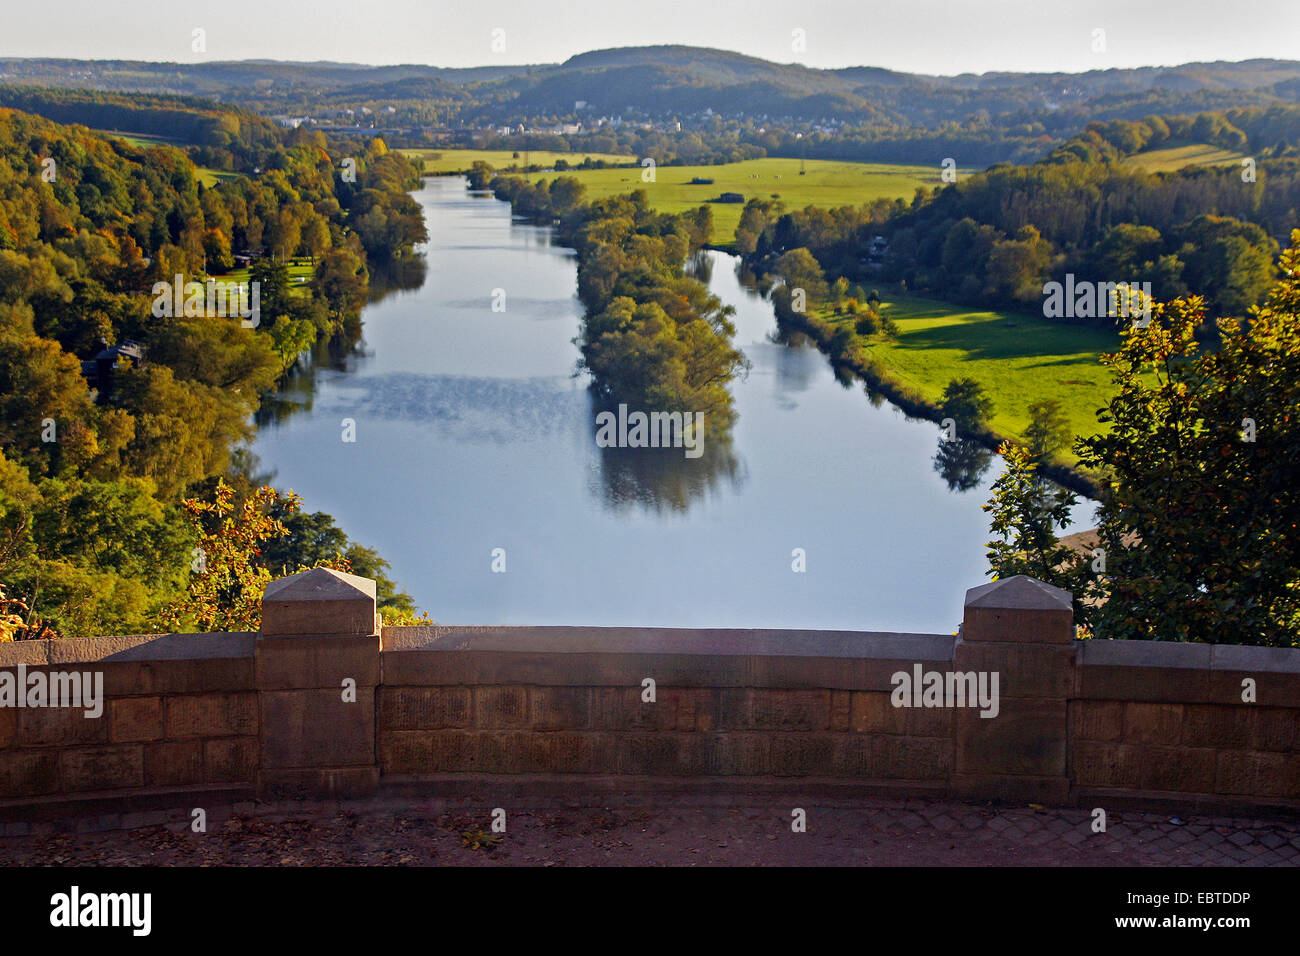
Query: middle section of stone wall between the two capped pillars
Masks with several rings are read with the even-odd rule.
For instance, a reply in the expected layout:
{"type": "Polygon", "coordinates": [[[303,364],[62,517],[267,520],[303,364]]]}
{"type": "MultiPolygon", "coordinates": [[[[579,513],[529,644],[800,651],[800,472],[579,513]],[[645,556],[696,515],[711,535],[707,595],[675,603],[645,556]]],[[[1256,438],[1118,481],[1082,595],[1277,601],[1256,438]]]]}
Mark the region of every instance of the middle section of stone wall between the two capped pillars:
{"type": "Polygon", "coordinates": [[[393,628],[380,769],[937,788],[953,714],[892,708],[889,678],[916,661],[946,667],[952,649],[953,637],[930,635],[393,628]]]}

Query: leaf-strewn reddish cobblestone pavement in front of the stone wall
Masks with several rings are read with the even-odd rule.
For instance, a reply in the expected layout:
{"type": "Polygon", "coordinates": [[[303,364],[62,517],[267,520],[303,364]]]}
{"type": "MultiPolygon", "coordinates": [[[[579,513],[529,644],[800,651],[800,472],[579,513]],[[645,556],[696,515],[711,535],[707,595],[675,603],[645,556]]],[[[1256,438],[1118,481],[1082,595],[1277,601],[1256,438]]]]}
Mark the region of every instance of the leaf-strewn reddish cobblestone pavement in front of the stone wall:
{"type": "Polygon", "coordinates": [[[1292,866],[1300,821],[1113,812],[1105,832],[1082,809],[916,799],[729,806],[647,799],[615,808],[507,809],[419,800],[239,804],[4,823],[4,865],[1019,865],[1292,866]],[[793,832],[792,809],[806,812],[793,832]],[[478,839],[476,839],[478,838],[478,839]],[[488,838],[488,839],[481,839],[488,838]]]}

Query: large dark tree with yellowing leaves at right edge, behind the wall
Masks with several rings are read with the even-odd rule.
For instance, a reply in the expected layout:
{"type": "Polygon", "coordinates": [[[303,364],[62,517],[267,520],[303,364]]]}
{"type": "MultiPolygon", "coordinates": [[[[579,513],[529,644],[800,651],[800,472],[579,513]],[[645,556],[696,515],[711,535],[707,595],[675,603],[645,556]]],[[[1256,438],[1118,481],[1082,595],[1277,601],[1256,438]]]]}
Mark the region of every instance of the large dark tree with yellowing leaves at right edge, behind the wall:
{"type": "Polygon", "coordinates": [[[1112,428],[1079,442],[1105,475],[1098,536],[1115,639],[1300,645],[1300,230],[1248,321],[1199,350],[1199,297],[1157,306],[1105,356],[1112,428]]]}

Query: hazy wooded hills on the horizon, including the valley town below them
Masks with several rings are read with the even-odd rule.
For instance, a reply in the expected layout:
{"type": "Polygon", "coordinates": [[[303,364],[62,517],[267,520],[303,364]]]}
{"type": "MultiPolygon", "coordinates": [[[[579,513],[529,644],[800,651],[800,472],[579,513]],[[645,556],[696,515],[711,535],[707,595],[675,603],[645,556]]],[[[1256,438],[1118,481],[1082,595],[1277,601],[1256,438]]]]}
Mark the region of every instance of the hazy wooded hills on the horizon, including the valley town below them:
{"type": "MultiPolygon", "coordinates": [[[[0,73],[21,86],[209,98],[332,127],[356,125],[359,133],[384,127],[394,146],[532,144],[653,156],[660,165],[764,155],[926,164],[953,156],[962,168],[1031,163],[1092,121],[1294,104],[1300,91],[1300,64],[1290,60],[937,77],[867,65],[815,69],[686,46],[473,69],[34,59],[3,60],[0,73]],[[670,135],[677,122],[685,137],[670,135]],[[582,127],[563,131],[575,124],[582,127]],[[511,133],[498,138],[500,127],[511,133]],[[485,130],[493,133],[484,138],[485,130]]],[[[0,105],[25,108],[8,95],[0,92],[0,105]]]]}

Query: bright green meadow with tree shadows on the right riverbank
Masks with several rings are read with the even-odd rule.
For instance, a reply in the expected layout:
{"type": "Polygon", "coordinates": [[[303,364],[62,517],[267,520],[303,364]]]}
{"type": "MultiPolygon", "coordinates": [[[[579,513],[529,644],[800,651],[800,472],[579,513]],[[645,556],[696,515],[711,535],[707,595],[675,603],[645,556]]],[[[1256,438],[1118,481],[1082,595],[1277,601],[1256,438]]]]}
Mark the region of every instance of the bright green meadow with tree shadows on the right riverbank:
{"type": "MultiPolygon", "coordinates": [[[[1098,356],[1118,349],[1117,334],[1017,312],[966,311],[915,295],[881,295],[898,337],[872,342],[870,351],[902,385],[937,402],[950,380],[974,378],[993,399],[989,425],[1014,438],[1024,436],[1030,403],[1048,398],[1061,402],[1075,434],[1098,431],[1096,410],[1112,394],[1110,373],[1098,356]]],[[[1075,460],[1072,454],[1062,458],[1075,460]]]]}

